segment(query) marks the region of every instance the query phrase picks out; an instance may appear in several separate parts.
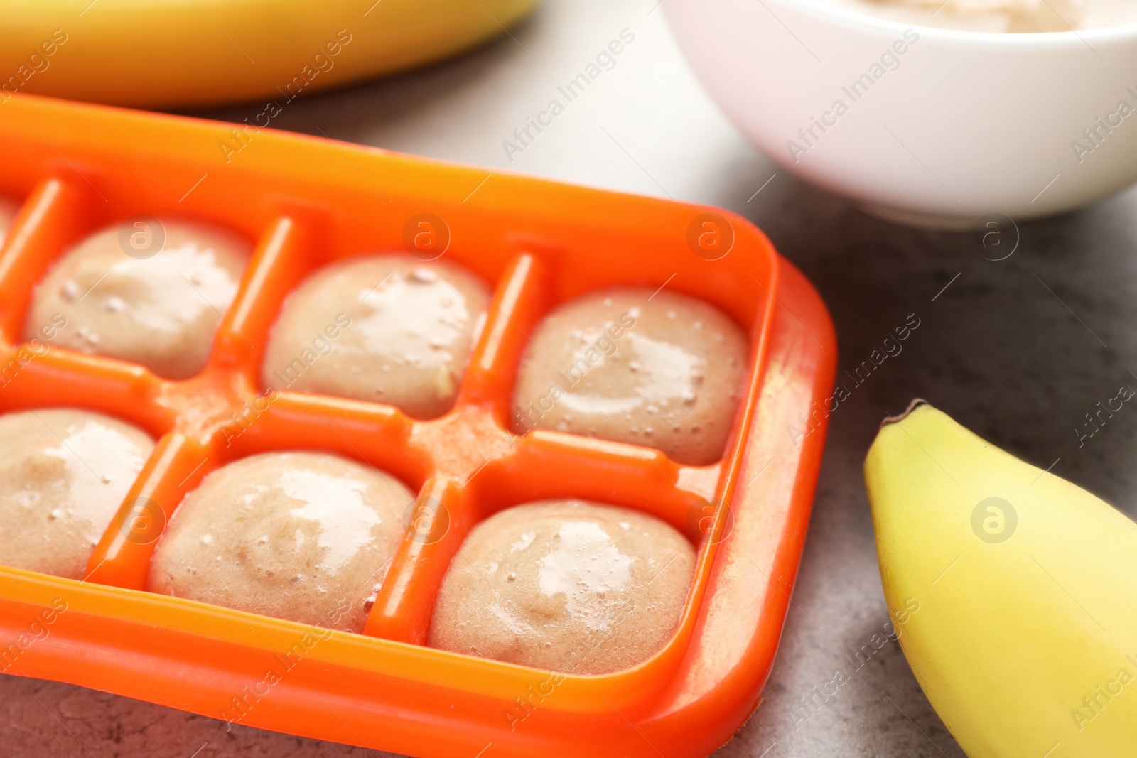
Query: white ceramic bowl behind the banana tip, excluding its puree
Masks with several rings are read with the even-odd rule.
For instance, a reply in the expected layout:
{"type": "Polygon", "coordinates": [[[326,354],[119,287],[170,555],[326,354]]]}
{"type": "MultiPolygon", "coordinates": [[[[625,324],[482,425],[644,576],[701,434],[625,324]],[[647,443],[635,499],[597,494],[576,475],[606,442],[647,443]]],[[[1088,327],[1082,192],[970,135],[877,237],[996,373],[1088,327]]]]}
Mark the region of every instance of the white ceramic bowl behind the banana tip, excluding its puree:
{"type": "Polygon", "coordinates": [[[965,227],[1070,210],[1137,182],[1137,25],[995,34],[824,0],[665,8],[697,75],[766,156],[879,216],[965,227]],[[1095,128],[1090,142],[1084,130],[1095,128]]]}

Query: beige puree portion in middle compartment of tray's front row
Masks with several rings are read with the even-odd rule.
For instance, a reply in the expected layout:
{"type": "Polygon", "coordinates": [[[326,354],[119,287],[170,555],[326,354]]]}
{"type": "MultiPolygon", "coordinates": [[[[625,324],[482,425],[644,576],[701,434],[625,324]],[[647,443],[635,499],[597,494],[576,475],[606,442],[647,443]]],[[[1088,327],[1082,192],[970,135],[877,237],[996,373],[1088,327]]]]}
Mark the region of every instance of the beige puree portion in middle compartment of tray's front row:
{"type": "Polygon", "coordinates": [[[414,494],[375,468],[321,452],[267,452],[185,495],[148,589],[362,632],[414,494]]]}

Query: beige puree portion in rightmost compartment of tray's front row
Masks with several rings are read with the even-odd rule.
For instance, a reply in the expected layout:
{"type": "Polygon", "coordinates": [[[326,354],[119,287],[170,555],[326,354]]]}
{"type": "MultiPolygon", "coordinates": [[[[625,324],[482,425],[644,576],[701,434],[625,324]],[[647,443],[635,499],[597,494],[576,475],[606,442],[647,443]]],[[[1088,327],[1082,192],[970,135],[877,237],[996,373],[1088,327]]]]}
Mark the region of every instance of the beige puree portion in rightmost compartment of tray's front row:
{"type": "Polygon", "coordinates": [[[564,674],[647,660],[675,632],[695,549],[636,510],[548,500],[503,510],[458,549],[429,644],[564,674]]]}

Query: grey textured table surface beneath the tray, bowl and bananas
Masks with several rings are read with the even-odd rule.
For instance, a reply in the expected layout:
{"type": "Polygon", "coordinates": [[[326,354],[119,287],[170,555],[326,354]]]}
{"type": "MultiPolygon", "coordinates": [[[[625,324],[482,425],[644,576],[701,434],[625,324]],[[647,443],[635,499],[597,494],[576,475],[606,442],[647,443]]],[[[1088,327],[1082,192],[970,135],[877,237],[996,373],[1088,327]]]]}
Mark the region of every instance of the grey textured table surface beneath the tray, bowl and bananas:
{"type": "MultiPolygon", "coordinates": [[[[958,758],[896,643],[814,713],[802,699],[888,619],[861,461],[879,420],[924,397],[1026,459],[1137,516],[1137,413],[1079,447],[1094,403],[1137,386],[1137,191],[1019,225],[1002,261],[974,235],[888,224],[775,168],[694,78],[657,0],[546,0],[496,42],[396,78],[297,100],[274,125],[435,158],[722,206],[754,220],[821,291],[840,366],[910,314],[901,355],[831,418],[805,556],[765,701],[723,758],[958,758]],[[522,152],[503,142],[622,30],[634,34],[522,152]],[[758,190],[761,191],[758,192],[758,190]],[[757,192],[757,193],[756,193],[757,192]],[[755,194],[756,193],[756,194],[755,194]],[[946,288],[946,289],[945,289],[946,288]],[[806,718],[806,716],[808,716],[806,718]]],[[[255,105],[200,115],[241,120],[255,105]]],[[[492,181],[492,178],[490,180],[492,181]]],[[[370,752],[82,688],[0,676],[5,756],[370,752]],[[194,752],[198,751],[198,752],[194,752]]],[[[473,758],[473,756],[471,756],[473,758]]]]}

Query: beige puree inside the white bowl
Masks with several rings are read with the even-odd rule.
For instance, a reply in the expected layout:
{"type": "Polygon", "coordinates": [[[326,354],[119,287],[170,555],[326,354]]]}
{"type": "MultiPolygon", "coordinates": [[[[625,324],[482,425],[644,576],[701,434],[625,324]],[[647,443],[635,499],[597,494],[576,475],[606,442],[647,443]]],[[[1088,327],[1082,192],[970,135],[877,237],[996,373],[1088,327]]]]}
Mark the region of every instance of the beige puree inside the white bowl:
{"type": "Polygon", "coordinates": [[[1069,32],[1137,23],[1137,0],[828,0],[902,24],[968,32],[1069,32]]]}

